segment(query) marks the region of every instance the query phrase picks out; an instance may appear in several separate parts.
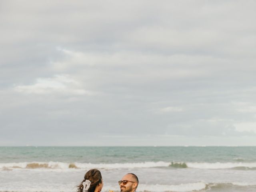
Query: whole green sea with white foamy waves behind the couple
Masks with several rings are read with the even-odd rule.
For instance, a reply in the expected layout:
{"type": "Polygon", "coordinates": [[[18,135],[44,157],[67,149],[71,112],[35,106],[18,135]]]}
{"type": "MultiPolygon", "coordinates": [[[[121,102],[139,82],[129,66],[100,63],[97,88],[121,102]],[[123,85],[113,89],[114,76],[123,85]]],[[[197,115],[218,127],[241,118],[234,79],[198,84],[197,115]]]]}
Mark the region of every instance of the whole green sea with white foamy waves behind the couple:
{"type": "Polygon", "coordinates": [[[102,192],[132,172],[137,192],[256,192],[256,147],[0,147],[0,192],[75,192],[91,168],[102,192]]]}

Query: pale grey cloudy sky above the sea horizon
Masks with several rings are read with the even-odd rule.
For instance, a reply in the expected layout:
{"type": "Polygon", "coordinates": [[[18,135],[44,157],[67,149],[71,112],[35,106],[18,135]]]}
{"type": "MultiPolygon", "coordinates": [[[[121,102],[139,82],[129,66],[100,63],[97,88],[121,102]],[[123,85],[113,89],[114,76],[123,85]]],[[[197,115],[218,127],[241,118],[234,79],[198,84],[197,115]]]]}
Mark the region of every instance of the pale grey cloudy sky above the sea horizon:
{"type": "Polygon", "coordinates": [[[0,1],[0,146],[256,146],[256,1],[0,1]]]}

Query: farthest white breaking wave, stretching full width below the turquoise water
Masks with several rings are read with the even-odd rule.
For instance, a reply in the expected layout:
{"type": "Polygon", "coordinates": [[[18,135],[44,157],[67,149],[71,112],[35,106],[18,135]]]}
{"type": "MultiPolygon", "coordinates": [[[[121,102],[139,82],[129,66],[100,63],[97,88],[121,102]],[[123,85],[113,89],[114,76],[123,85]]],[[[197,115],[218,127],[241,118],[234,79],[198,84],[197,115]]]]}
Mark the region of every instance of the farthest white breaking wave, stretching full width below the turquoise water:
{"type": "Polygon", "coordinates": [[[66,162],[18,162],[0,163],[0,169],[119,169],[119,168],[196,168],[196,169],[235,169],[235,170],[256,170],[256,162],[226,162],[226,163],[206,163],[206,162],[139,162],[139,163],[66,163],[66,162]]]}

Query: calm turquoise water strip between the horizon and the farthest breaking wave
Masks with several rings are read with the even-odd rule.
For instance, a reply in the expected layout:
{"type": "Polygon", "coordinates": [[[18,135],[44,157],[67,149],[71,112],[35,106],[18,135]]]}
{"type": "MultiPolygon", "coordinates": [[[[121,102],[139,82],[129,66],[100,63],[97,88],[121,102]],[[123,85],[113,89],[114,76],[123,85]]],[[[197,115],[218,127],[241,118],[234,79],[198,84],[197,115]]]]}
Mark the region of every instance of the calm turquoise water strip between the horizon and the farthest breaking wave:
{"type": "Polygon", "coordinates": [[[256,147],[0,147],[0,162],[256,162],[256,147]]]}

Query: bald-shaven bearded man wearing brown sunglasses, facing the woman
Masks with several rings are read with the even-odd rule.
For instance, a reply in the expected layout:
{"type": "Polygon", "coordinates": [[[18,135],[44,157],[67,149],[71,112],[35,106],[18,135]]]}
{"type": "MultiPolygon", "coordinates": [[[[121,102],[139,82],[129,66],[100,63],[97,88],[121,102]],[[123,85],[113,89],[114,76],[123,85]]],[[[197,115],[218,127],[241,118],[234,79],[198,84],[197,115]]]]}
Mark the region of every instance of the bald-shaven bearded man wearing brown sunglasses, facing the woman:
{"type": "Polygon", "coordinates": [[[138,177],[133,173],[125,174],[122,180],[118,181],[120,192],[135,192],[138,187],[138,177]]]}

